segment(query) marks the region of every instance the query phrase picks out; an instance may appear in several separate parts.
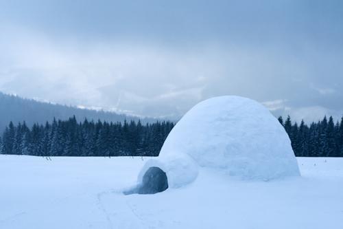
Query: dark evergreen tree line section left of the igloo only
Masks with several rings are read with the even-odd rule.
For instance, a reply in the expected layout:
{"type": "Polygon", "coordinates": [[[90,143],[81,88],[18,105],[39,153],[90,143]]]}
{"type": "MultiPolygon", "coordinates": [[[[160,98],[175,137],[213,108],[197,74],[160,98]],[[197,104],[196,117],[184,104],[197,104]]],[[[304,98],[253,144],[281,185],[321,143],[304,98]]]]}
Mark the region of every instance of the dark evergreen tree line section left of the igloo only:
{"type": "Polygon", "coordinates": [[[10,122],[0,140],[6,155],[50,156],[157,156],[174,127],[173,122],[77,122],[56,120],[27,127],[10,122]]]}

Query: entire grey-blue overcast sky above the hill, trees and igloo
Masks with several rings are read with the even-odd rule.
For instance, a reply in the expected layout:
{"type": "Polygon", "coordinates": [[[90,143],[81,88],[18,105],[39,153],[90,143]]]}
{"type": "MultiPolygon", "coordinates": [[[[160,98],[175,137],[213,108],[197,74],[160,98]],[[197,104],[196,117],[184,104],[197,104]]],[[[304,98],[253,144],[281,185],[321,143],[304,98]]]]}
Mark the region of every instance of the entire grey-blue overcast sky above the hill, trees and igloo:
{"type": "Polygon", "coordinates": [[[178,118],[238,95],[343,114],[343,1],[0,0],[0,91],[178,118]]]}

